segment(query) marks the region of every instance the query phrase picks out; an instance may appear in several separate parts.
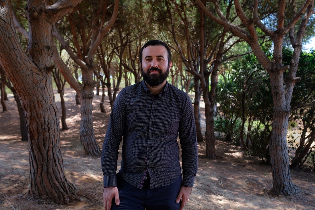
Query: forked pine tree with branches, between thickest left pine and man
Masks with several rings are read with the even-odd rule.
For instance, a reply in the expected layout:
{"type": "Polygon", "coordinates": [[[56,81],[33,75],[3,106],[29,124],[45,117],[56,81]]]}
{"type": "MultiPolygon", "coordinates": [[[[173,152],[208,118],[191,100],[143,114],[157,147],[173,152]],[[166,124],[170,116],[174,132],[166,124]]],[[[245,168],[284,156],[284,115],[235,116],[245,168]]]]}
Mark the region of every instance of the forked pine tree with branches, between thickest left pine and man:
{"type": "MultiPolygon", "coordinates": [[[[67,16],[72,29],[72,41],[69,44],[59,31],[58,27],[54,28],[53,35],[59,40],[63,48],[67,51],[71,59],[81,68],[82,84],[73,77],[72,72],[67,68],[65,63],[57,53],[54,47],[53,59],[58,69],[66,79],[66,81],[77,91],[81,104],[81,123],[80,123],[80,138],[84,147],[85,154],[91,156],[101,155],[100,147],[97,145],[92,118],[92,100],[95,81],[93,78],[95,53],[100,46],[102,39],[105,37],[108,30],[114,25],[117,17],[119,0],[115,0],[112,5],[108,5],[108,1],[94,1],[92,5],[85,2],[73,10],[67,16]],[[107,8],[112,8],[112,15],[106,22],[107,8]],[[87,10],[86,10],[87,9],[87,10]],[[88,12],[92,10],[92,16],[88,16],[88,12]],[[85,15],[83,15],[85,14],[85,15]],[[87,18],[90,18],[87,20],[87,18]],[[88,27],[88,28],[87,28],[88,27]],[[86,34],[86,32],[88,34],[86,34]],[[78,38],[80,34],[81,40],[78,38]]],[[[59,26],[63,27],[64,23],[59,26]]]]}

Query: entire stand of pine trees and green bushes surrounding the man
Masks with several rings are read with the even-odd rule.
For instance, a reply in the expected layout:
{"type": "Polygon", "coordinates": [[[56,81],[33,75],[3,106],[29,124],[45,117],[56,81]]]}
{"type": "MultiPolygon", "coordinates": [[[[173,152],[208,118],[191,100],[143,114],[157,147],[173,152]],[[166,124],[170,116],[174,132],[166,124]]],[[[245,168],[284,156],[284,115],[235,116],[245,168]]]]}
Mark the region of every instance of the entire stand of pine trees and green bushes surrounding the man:
{"type": "Polygon", "coordinates": [[[104,108],[105,94],[112,106],[122,87],[141,80],[138,55],[150,39],[171,47],[168,81],[192,95],[206,157],[216,158],[218,131],[271,163],[272,193],[299,191],[289,166],[314,160],[314,51],[301,52],[314,35],[313,0],[7,0],[0,7],[1,104],[5,111],[6,85],[20,110],[22,140],[30,142],[32,195],[57,203],[76,198],[63,172],[52,79],[61,98],[62,129],[68,128],[67,82],[81,106],[84,151],[98,156],[93,91],[103,96],[102,112],[110,111],[104,108]],[[287,138],[288,128],[295,128],[299,142],[287,138]],[[289,149],[295,152],[291,162],[289,149]]]}

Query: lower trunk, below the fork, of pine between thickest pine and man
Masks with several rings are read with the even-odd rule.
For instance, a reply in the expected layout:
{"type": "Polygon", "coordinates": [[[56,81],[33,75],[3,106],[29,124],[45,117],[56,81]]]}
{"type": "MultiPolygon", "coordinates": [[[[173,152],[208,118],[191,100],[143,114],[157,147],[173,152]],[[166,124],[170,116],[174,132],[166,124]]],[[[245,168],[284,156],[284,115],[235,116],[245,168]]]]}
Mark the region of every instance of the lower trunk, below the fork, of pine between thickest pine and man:
{"type": "Polygon", "coordinates": [[[101,151],[96,142],[93,130],[92,100],[94,96],[94,84],[92,77],[93,69],[82,72],[83,88],[81,93],[79,93],[81,104],[80,138],[86,155],[99,156],[101,155],[101,151]]]}

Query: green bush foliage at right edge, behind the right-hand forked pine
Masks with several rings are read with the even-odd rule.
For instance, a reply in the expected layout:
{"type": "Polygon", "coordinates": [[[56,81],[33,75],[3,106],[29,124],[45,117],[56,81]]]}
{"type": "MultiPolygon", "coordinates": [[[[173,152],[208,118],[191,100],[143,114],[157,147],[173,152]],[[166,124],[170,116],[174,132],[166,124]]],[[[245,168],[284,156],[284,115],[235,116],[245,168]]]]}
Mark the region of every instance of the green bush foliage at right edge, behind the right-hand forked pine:
{"type": "MultiPolygon", "coordinates": [[[[292,51],[284,49],[283,51],[284,64],[290,64],[290,58],[292,51]]],[[[286,76],[286,73],[285,73],[286,76]]],[[[291,135],[288,136],[288,143],[290,150],[296,152],[295,157],[292,161],[294,162],[298,157],[299,152],[301,153],[306,149],[306,142],[311,140],[307,132],[314,131],[315,128],[315,51],[301,52],[299,67],[296,76],[301,77],[301,81],[295,83],[295,87],[292,93],[291,108],[292,112],[290,115],[291,127],[295,130],[291,131],[291,135]],[[302,140],[302,141],[301,141],[302,140]]],[[[312,148],[310,148],[311,150],[312,148]]],[[[310,151],[308,151],[310,154],[310,151]]],[[[298,167],[301,167],[305,160],[313,165],[311,161],[311,155],[307,158],[307,155],[303,159],[299,159],[298,167]]],[[[297,160],[296,160],[297,161],[297,160]]],[[[293,163],[292,162],[292,163],[293,163]]],[[[295,163],[296,164],[296,163],[295,163]]]]}

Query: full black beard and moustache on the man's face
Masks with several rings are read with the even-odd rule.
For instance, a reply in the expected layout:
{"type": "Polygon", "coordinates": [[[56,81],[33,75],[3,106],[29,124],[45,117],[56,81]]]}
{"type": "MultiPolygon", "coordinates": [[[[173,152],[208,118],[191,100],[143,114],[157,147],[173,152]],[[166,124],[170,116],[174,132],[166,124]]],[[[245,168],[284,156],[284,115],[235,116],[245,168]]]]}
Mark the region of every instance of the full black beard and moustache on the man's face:
{"type": "Polygon", "coordinates": [[[148,69],[147,73],[143,71],[143,68],[141,66],[141,73],[144,81],[150,86],[157,86],[161,85],[164,80],[169,75],[169,66],[167,67],[166,71],[162,73],[162,70],[156,67],[151,67],[148,69]],[[150,74],[150,71],[158,71],[159,73],[150,74]]]}

